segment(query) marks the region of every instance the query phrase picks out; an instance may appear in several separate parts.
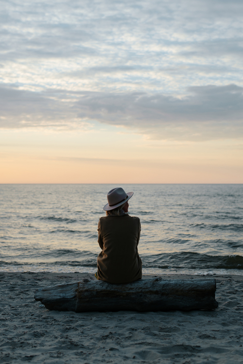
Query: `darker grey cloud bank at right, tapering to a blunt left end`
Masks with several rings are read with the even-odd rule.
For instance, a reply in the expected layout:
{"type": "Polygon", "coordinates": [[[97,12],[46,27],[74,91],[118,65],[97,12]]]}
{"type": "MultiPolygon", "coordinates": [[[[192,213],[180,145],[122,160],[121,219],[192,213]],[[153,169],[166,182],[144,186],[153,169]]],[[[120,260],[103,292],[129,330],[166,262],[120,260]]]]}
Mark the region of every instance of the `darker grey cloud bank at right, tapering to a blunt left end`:
{"type": "Polygon", "coordinates": [[[154,139],[207,140],[243,134],[243,87],[189,87],[187,96],[85,95],[79,117],[134,128],[154,139]]]}

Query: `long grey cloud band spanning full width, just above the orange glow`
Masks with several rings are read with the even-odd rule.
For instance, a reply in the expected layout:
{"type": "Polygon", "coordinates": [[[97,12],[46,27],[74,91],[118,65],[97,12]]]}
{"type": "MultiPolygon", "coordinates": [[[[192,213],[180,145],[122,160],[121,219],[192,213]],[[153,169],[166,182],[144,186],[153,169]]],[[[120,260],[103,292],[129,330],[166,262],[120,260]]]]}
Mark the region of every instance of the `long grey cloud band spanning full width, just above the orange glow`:
{"type": "Polygon", "coordinates": [[[243,132],[243,87],[189,87],[184,97],[163,94],[31,92],[0,89],[0,126],[73,128],[99,121],[153,139],[239,138],[243,132]],[[13,106],[14,105],[14,106],[13,106]]]}

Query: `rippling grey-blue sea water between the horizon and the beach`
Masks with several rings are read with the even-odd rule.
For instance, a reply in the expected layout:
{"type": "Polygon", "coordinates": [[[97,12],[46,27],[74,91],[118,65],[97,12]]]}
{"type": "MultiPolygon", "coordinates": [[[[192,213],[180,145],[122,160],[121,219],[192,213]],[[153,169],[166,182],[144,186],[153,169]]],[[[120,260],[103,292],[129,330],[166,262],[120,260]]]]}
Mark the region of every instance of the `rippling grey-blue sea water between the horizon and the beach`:
{"type": "Polygon", "coordinates": [[[0,185],[0,271],[96,272],[106,194],[134,191],[143,273],[243,274],[243,185],[0,185]]]}

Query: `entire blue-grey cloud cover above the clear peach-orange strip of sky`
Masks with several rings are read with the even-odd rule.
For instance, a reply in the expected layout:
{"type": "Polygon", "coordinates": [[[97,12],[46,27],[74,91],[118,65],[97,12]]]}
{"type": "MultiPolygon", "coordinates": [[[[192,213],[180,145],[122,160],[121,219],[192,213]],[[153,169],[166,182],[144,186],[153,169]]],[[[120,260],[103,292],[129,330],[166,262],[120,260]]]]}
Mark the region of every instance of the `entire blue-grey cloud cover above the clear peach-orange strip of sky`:
{"type": "Polygon", "coordinates": [[[157,139],[242,136],[241,0],[1,7],[0,127],[100,121],[157,139]]]}

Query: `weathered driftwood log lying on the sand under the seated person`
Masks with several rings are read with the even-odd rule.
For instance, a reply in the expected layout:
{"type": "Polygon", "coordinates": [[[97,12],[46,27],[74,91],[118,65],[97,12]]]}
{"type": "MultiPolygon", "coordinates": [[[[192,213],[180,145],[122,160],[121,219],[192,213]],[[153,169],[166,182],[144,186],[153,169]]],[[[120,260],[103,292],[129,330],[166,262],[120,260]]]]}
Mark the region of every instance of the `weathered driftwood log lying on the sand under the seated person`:
{"type": "Polygon", "coordinates": [[[171,311],[211,310],[215,300],[215,279],[139,279],[111,284],[85,278],[35,291],[35,300],[57,311],[171,311]]]}

